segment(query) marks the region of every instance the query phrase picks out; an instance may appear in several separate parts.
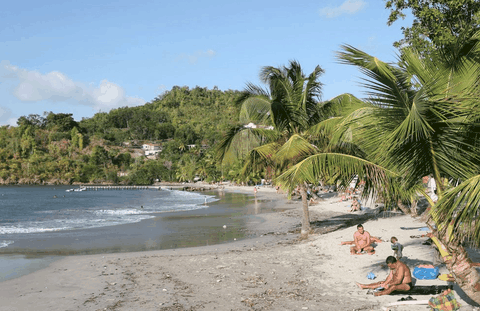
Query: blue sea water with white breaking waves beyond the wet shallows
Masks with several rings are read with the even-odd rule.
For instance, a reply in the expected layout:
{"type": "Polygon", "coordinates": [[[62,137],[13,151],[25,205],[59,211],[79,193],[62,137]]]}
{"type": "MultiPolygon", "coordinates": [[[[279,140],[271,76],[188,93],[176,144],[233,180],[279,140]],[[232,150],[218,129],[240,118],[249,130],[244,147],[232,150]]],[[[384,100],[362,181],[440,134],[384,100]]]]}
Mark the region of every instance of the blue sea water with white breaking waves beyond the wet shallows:
{"type": "Polygon", "coordinates": [[[72,187],[0,187],[0,249],[37,233],[138,223],[167,212],[207,208],[214,195],[176,190],[72,191],[72,187]]]}

